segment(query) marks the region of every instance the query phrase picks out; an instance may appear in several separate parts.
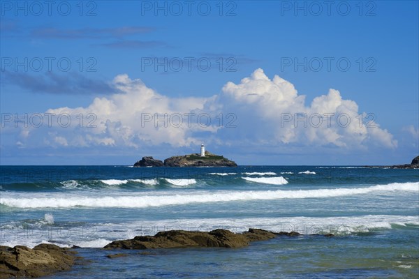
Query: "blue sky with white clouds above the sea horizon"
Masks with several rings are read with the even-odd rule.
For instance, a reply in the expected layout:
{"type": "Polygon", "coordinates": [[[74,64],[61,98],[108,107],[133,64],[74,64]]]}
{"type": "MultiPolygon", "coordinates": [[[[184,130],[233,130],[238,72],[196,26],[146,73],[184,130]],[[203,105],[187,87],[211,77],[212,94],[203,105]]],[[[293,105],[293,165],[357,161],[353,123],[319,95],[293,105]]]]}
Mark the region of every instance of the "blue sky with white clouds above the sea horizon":
{"type": "Polygon", "coordinates": [[[418,1],[1,1],[0,164],[419,155],[418,1]]]}

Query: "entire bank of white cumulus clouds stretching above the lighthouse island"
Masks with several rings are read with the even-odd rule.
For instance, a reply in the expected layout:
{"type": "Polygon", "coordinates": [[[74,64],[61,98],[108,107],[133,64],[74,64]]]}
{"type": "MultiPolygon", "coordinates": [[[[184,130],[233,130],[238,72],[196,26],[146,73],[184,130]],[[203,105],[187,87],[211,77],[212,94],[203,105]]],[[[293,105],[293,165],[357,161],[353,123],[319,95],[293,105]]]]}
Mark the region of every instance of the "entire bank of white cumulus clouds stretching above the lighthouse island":
{"type": "Polygon", "coordinates": [[[227,82],[221,93],[208,98],[170,98],[128,75],[118,75],[111,84],[117,93],[94,98],[87,107],[48,110],[73,121],[65,128],[54,125],[47,141],[131,148],[203,141],[220,146],[397,147],[374,116],[359,112],[357,103],[339,91],[330,89],[306,105],[291,82],[277,75],[271,80],[260,68],[238,84],[227,82]]]}

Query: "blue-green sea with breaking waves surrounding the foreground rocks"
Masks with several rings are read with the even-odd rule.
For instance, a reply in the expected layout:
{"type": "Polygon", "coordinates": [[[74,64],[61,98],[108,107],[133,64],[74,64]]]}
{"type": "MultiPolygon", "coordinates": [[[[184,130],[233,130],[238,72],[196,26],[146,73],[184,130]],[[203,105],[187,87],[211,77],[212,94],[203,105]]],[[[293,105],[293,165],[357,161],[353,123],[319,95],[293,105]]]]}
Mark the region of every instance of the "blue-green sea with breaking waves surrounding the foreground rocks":
{"type": "Polygon", "coordinates": [[[48,278],[418,278],[419,170],[1,166],[0,245],[80,246],[48,278]],[[170,229],[297,231],[247,248],[102,250],[170,229]],[[311,234],[335,234],[337,237],[311,234]],[[127,257],[109,259],[124,252],[127,257]]]}

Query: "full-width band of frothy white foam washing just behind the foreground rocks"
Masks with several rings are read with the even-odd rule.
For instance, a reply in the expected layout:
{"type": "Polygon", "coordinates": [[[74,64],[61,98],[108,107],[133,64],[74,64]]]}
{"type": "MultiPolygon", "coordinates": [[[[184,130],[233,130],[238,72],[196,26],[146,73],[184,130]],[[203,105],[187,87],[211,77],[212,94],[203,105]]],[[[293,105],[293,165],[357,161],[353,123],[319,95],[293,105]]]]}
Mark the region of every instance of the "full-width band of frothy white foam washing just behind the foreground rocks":
{"type": "MultiPolygon", "coordinates": [[[[24,245],[30,248],[40,243],[53,243],[60,247],[103,247],[117,239],[132,239],[137,235],[154,235],[157,232],[170,229],[184,229],[189,231],[205,231],[212,229],[230,229],[232,232],[244,232],[250,227],[258,227],[273,232],[300,232],[300,234],[327,234],[349,235],[365,232],[376,232],[382,228],[392,229],[392,224],[419,226],[417,216],[392,216],[392,215],[366,215],[366,216],[332,216],[332,217],[307,217],[307,216],[279,216],[273,218],[179,218],[163,220],[135,220],[128,223],[96,223],[86,230],[86,227],[73,227],[71,232],[84,232],[83,238],[79,233],[64,233],[65,229],[48,231],[36,230],[30,237],[16,238],[15,235],[27,235],[27,231],[7,229],[3,231],[0,245],[24,245]],[[94,239],[92,239],[94,238],[94,239]]],[[[402,257],[406,257],[402,255],[402,257]]],[[[402,264],[400,262],[399,264],[402,264]]],[[[409,264],[404,262],[405,265],[409,264]]],[[[407,268],[407,267],[406,267],[407,268]]]]}

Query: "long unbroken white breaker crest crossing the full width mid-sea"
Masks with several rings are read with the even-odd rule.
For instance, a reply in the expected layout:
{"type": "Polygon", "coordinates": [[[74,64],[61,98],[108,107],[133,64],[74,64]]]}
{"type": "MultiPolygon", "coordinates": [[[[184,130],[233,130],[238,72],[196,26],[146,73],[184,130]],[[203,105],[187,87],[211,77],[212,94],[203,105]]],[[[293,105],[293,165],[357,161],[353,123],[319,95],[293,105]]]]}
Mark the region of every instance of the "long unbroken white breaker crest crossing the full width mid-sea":
{"type": "MultiPolygon", "coordinates": [[[[263,178],[260,178],[263,179],[263,178]]],[[[268,178],[265,178],[268,179],[268,178]]],[[[195,179],[185,179],[196,183],[195,179]]],[[[179,180],[175,180],[179,182],[179,180]]],[[[182,180],[181,180],[182,183],[182,180]]],[[[365,188],[323,188],[317,190],[266,190],[266,191],[201,191],[182,195],[164,193],[162,195],[144,195],[144,193],[129,195],[118,193],[117,196],[85,196],[68,193],[63,197],[62,193],[1,193],[0,203],[17,208],[67,208],[75,206],[88,207],[121,207],[121,208],[144,208],[149,206],[169,206],[176,204],[193,204],[209,202],[232,202],[244,200],[270,200],[270,199],[305,199],[322,197],[342,197],[348,195],[361,195],[381,192],[419,192],[419,183],[390,183],[388,185],[376,185],[365,188]]]]}

